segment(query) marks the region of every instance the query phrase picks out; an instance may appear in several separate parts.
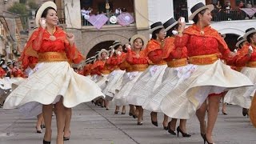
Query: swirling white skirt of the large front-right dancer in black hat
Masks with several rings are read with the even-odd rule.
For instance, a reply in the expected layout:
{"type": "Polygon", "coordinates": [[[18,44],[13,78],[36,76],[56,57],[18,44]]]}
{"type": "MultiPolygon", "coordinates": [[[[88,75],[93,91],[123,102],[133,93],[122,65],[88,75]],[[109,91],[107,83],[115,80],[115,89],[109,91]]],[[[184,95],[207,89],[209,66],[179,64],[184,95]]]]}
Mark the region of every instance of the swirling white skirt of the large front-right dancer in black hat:
{"type": "Polygon", "coordinates": [[[170,118],[189,119],[209,94],[221,94],[241,86],[253,86],[253,83],[218,60],[210,65],[196,66],[189,78],[162,99],[160,108],[170,118]]]}

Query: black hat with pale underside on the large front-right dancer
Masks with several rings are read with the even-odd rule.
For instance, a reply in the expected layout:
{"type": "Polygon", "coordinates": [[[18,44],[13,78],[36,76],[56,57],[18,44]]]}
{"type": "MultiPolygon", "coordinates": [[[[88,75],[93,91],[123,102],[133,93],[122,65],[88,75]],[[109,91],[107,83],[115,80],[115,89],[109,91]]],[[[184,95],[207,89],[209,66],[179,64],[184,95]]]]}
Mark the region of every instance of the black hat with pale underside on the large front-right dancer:
{"type": "Polygon", "coordinates": [[[209,9],[210,11],[214,10],[214,5],[205,5],[202,2],[197,3],[191,8],[191,15],[189,17],[189,20],[193,20],[194,16],[197,15],[200,11],[209,9]]]}

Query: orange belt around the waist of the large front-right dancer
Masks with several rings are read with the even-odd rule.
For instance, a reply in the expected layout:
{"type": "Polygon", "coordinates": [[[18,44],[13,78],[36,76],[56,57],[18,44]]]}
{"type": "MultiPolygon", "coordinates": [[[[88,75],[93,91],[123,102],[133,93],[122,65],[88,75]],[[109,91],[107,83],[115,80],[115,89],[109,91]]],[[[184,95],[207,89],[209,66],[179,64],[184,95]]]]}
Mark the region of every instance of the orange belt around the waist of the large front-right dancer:
{"type": "Polygon", "coordinates": [[[218,60],[218,54],[198,55],[189,58],[194,65],[210,65],[218,60]]]}

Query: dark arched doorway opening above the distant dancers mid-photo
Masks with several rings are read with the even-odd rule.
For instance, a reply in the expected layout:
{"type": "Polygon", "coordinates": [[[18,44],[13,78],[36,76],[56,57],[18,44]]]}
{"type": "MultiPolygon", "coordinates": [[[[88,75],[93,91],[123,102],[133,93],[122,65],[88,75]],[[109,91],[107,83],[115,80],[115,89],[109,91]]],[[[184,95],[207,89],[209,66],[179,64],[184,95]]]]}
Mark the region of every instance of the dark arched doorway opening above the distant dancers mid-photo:
{"type": "Polygon", "coordinates": [[[90,49],[89,53],[87,54],[86,58],[93,57],[97,51],[100,51],[102,49],[109,50],[109,47],[112,46],[114,41],[105,41],[100,42],[97,45],[95,45],[92,49],[90,49]]]}

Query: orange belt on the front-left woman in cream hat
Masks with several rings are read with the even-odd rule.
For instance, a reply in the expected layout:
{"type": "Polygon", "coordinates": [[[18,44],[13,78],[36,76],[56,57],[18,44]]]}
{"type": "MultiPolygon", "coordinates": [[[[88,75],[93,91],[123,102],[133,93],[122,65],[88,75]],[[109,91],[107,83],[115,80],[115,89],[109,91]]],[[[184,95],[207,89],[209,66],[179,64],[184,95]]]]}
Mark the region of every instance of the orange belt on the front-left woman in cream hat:
{"type": "Polygon", "coordinates": [[[38,54],[38,56],[39,62],[69,62],[66,53],[46,52],[38,54]]]}

